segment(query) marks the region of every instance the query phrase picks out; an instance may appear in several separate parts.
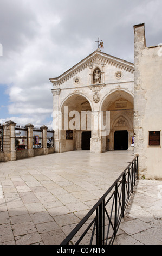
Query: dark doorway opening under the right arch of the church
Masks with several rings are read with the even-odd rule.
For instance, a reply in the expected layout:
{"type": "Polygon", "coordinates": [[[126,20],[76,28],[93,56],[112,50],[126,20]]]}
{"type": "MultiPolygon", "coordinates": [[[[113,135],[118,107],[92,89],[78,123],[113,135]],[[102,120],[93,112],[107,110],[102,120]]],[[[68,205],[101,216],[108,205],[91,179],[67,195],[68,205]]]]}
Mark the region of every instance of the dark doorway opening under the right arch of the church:
{"type": "Polygon", "coordinates": [[[114,132],[114,150],[128,149],[128,131],[114,132]]]}

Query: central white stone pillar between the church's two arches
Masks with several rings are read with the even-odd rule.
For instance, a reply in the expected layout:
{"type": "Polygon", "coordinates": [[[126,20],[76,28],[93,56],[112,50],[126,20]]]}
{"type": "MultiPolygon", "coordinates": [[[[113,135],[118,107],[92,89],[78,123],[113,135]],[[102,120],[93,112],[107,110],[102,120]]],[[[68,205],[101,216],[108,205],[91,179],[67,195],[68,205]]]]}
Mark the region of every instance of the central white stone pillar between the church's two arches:
{"type": "Polygon", "coordinates": [[[90,139],[90,153],[102,153],[102,139],[100,136],[99,111],[92,112],[92,137],[90,139]]]}

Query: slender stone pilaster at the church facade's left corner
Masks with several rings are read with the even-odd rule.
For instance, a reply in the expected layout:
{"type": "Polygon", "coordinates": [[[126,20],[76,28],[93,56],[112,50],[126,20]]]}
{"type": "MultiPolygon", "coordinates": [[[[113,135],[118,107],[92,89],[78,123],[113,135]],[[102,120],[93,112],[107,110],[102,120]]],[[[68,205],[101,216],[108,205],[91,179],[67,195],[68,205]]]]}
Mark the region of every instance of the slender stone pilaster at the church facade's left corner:
{"type": "MultiPolygon", "coordinates": [[[[51,92],[53,94],[53,122],[55,124],[55,118],[56,115],[59,115],[59,95],[60,95],[61,89],[52,89],[51,92]]],[[[59,118],[58,118],[59,119],[59,118]]],[[[58,120],[57,127],[53,127],[53,130],[55,131],[54,135],[54,146],[55,146],[55,152],[60,152],[60,129],[59,129],[59,123],[60,119],[58,120]]]]}

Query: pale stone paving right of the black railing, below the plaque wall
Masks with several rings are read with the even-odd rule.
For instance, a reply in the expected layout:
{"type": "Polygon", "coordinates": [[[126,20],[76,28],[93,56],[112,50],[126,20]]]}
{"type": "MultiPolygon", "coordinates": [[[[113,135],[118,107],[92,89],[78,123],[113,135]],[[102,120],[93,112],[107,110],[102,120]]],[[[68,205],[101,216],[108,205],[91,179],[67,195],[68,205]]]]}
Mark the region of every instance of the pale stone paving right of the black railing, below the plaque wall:
{"type": "Polygon", "coordinates": [[[162,181],[137,181],[114,245],[162,245],[162,181]]]}

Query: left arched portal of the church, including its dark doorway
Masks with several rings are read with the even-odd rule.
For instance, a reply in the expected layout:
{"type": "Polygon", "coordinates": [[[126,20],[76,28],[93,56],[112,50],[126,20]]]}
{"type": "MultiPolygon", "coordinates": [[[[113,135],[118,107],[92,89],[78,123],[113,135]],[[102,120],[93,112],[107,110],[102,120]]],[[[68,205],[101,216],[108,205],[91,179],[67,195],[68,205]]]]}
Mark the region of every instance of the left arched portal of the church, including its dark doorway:
{"type": "Polygon", "coordinates": [[[89,150],[91,137],[91,105],[81,94],[73,94],[62,102],[60,152],[89,150]]]}

